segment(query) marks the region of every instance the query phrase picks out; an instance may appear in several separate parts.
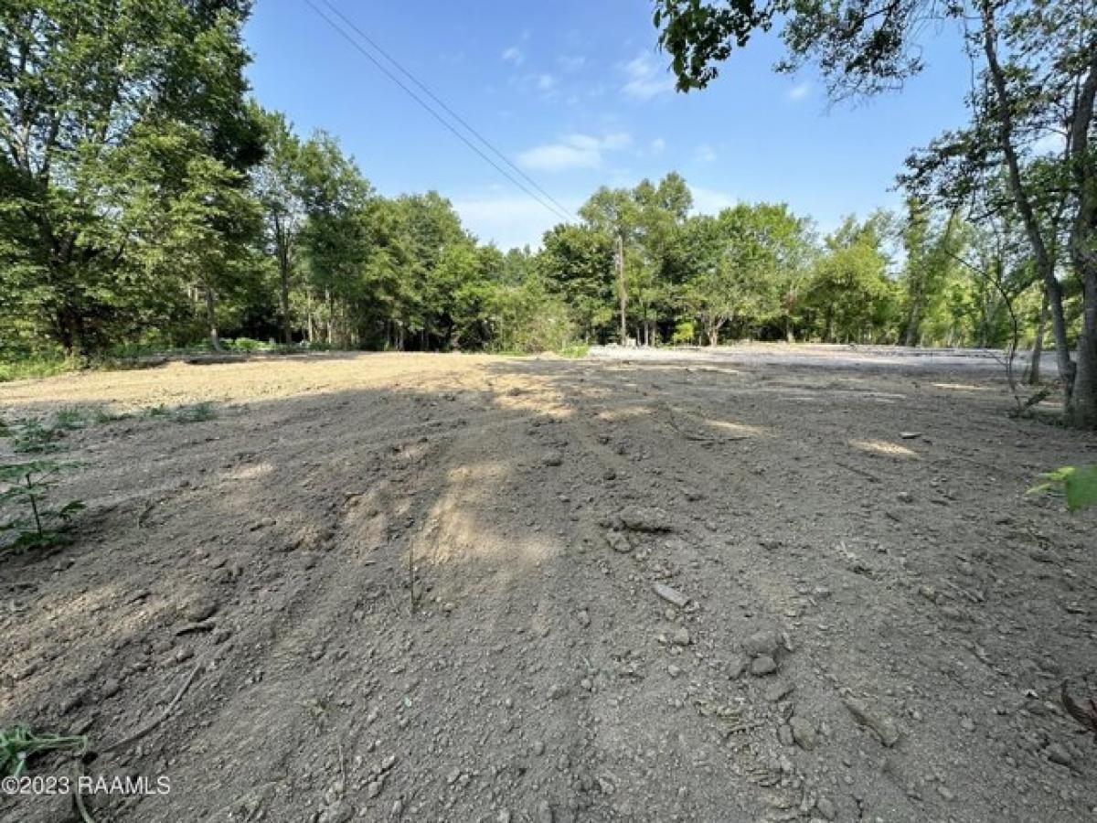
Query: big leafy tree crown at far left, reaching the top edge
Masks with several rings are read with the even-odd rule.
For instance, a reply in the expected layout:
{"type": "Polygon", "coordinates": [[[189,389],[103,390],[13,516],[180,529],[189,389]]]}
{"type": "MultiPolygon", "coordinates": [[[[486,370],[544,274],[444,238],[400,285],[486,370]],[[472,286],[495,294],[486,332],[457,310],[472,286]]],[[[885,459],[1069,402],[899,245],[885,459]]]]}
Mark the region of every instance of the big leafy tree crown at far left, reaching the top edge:
{"type": "Polygon", "coordinates": [[[5,291],[33,286],[19,311],[70,354],[105,345],[150,291],[137,282],[150,269],[133,266],[131,228],[172,206],[147,196],[138,171],[162,178],[157,161],[174,166],[185,150],[192,169],[236,185],[202,158],[233,171],[259,159],[244,100],[246,13],[178,0],[0,5],[0,268],[15,273],[5,291]]]}

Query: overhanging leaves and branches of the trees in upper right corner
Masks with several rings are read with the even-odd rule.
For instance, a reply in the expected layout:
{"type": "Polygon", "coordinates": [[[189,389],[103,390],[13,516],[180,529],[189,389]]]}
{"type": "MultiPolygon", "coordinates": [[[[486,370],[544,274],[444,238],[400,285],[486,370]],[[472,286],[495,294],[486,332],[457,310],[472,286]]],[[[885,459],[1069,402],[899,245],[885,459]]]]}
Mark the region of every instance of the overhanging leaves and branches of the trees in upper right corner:
{"type": "MultiPolygon", "coordinates": [[[[912,155],[901,182],[918,201],[965,211],[975,225],[988,217],[1016,224],[1033,279],[1047,296],[1066,419],[1097,429],[1097,16],[1092,4],[656,0],[655,13],[659,41],[683,91],[706,86],[717,76],[717,64],[777,24],[787,47],[778,68],[814,65],[833,100],[902,87],[924,68],[925,40],[948,22],[972,60],[971,122],[912,155]],[[1071,279],[1081,289],[1076,340],[1066,305],[1071,279]]],[[[926,238],[919,237],[926,228],[920,206],[908,226],[914,253],[905,336],[913,340],[924,308],[927,252],[926,238]]],[[[1010,298],[999,296],[1009,309],[1010,298]]],[[[1016,327],[1016,317],[1009,324],[1016,327]]]]}

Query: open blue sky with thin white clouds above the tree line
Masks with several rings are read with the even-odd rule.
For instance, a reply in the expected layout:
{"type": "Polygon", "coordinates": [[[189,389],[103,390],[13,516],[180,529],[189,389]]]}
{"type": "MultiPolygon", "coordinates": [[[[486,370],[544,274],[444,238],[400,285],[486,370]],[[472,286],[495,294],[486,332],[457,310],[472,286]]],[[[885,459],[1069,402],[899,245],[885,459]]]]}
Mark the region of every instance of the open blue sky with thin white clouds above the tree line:
{"type": "MultiPolygon", "coordinates": [[[[324,0],[315,0],[324,8],[324,0]]],[[[964,122],[970,71],[951,32],[900,93],[828,106],[810,71],[777,75],[774,37],[706,90],[676,93],[645,0],[331,0],[557,201],[680,172],[698,211],[783,201],[823,230],[897,207],[913,147],[964,122]]],[[[558,222],[381,74],[305,0],[258,0],[246,30],[258,99],[325,128],[380,192],[434,189],[482,240],[536,246],[558,222]]]]}

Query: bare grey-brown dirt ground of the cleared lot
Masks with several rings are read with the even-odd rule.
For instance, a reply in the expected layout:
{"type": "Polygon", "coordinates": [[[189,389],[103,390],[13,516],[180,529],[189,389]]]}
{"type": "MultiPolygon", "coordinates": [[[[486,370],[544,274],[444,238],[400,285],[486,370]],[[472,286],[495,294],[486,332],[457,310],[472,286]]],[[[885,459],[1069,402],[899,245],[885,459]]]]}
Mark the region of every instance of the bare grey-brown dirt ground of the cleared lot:
{"type": "Polygon", "coordinates": [[[1059,702],[1097,695],[1097,512],[1025,495],[1097,438],[962,358],[776,356],[2,385],[217,414],[66,438],[88,509],[0,566],[0,725],[106,747],[189,683],[90,766],[170,793],[98,823],[1097,820],[1059,702]]]}

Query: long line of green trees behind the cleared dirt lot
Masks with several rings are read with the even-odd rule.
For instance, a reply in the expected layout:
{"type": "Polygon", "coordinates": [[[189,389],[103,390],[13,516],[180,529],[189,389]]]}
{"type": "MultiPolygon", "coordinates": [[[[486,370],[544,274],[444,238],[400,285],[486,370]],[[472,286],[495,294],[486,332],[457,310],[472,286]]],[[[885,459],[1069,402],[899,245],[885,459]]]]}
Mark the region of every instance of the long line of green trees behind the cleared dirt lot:
{"type": "MultiPolygon", "coordinates": [[[[706,7],[665,5],[677,16],[664,45],[689,81],[688,40],[676,37],[688,10],[706,7]]],[[[0,357],[255,340],[1039,347],[1047,330],[1068,360],[1086,339],[1094,301],[1064,251],[1077,246],[1070,174],[1047,155],[1022,156],[1014,174],[984,127],[991,114],[912,157],[902,214],[828,233],[782,203],[697,214],[671,172],[599,189],[539,249],[505,252],[437,192],[380,195],[335,138],[298,135],[251,99],[248,11],[247,0],[0,10],[0,357]]],[[[989,91],[973,104],[997,105],[989,91]]]]}

